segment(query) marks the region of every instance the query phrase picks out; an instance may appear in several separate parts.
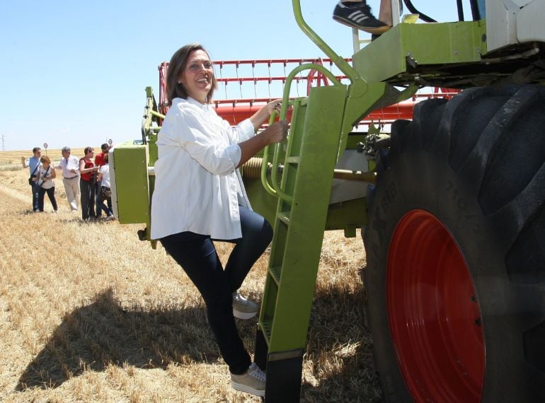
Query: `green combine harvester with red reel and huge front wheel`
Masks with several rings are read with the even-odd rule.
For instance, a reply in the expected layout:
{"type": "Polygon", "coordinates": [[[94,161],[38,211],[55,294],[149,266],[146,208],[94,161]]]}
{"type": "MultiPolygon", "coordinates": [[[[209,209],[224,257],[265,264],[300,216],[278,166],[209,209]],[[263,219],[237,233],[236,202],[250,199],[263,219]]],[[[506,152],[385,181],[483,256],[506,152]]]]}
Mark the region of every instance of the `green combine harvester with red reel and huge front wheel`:
{"type": "MultiPolygon", "coordinates": [[[[471,0],[471,21],[458,0],[452,23],[405,0],[425,23],[394,21],[362,49],[355,31],[349,60],[292,3],[327,60],[250,61],[294,68],[231,78],[227,66],[248,62],[216,62],[225,88],[280,83],[280,118],[292,106],[285,144],[243,167],[254,209],[275,228],[256,336],[265,400],[299,400],[323,231],[361,228],[386,402],[545,402],[545,0],[471,0]],[[301,82],[308,92],[294,96],[301,82]],[[429,99],[414,106],[422,88],[429,99]]],[[[144,144],[113,151],[115,214],[145,223],[141,239],[166,67],[159,107],[147,88],[144,144]]],[[[235,123],[270,98],[216,107],[235,123]]]]}

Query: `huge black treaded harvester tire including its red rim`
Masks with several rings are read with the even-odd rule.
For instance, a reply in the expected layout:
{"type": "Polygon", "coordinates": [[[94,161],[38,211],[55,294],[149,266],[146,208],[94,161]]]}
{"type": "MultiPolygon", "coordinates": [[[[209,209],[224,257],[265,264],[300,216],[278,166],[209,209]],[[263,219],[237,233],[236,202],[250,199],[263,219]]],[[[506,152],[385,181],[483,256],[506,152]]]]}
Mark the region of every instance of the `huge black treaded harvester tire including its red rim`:
{"type": "Polygon", "coordinates": [[[392,127],[363,231],[386,402],[545,402],[545,88],[473,88],[392,127]]]}

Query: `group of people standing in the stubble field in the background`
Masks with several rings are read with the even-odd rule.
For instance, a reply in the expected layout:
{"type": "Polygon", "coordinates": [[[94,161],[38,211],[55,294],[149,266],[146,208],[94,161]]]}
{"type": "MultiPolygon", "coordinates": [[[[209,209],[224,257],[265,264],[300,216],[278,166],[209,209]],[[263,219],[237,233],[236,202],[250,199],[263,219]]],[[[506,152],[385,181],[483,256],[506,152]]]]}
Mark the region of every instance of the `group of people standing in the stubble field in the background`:
{"type": "Polygon", "coordinates": [[[54,196],[57,169],[62,170],[62,183],[71,211],[77,211],[81,204],[81,218],[84,221],[100,219],[103,211],[106,220],[113,220],[109,150],[110,146],[103,144],[101,153],[94,156],[94,148],[86,147],[85,156],[77,158],[71,155],[70,147],[65,146],[61,150],[62,159],[57,165],[52,165],[48,156],[42,156],[40,147],[33,148],[33,156],[28,159],[28,164],[25,158],[21,157],[23,168],[30,171],[28,182],[32,187],[33,211],[44,211],[44,199],[47,194],[53,211],[57,212],[58,205],[54,196]]]}

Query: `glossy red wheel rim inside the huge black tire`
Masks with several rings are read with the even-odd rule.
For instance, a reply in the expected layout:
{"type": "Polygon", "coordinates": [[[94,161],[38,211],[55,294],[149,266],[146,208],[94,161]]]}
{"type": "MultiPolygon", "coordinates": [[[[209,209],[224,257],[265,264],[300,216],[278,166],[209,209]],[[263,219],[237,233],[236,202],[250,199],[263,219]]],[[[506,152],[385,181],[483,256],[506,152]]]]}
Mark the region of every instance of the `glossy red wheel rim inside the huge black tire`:
{"type": "Polygon", "coordinates": [[[386,276],[391,337],[415,402],[480,402],[481,310],[447,228],[427,211],[403,216],[389,247],[386,276]]]}

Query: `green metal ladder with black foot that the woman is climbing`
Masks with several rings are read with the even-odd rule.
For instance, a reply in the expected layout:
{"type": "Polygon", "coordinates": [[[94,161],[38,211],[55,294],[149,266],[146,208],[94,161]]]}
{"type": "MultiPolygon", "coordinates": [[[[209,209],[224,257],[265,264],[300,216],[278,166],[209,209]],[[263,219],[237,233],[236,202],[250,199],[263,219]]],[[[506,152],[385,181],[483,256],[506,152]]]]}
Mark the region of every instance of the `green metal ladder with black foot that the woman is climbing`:
{"type": "MultiPolygon", "coordinates": [[[[321,66],[300,67],[304,68],[321,66]]],[[[299,68],[294,74],[297,71],[299,68]]],[[[313,88],[309,98],[294,101],[285,151],[276,147],[272,186],[264,184],[279,198],[256,335],[256,363],[267,370],[268,402],[299,400],[306,332],[346,94],[347,87],[337,83],[313,88]],[[280,154],[284,168],[279,185],[280,154]]],[[[266,181],[266,172],[263,177],[266,181]]]]}

